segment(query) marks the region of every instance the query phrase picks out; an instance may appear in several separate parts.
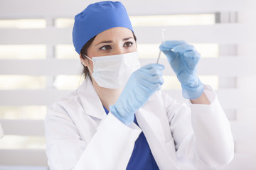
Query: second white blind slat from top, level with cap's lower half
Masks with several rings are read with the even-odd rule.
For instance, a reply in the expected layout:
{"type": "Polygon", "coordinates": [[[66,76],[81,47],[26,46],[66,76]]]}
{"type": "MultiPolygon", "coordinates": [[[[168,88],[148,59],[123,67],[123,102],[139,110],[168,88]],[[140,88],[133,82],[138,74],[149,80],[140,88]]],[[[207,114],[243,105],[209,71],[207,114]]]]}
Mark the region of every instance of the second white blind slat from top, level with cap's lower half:
{"type": "MultiPolygon", "coordinates": [[[[213,26],[158,26],[137,27],[134,32],[138,43],[161,42],[161,30],[165,40],[186,40],[188,42],[243,43],[253,42],[254,29],[242,23],[223,23],[213,26]],[[149,36],[150,35],[150,36],[149,36]]],[[[72,44],[73,28],[46,29],[1,29],[0,45],[7,44],[72,44]],[[10,38],[13,37],[13,38],[10,38]]]]}

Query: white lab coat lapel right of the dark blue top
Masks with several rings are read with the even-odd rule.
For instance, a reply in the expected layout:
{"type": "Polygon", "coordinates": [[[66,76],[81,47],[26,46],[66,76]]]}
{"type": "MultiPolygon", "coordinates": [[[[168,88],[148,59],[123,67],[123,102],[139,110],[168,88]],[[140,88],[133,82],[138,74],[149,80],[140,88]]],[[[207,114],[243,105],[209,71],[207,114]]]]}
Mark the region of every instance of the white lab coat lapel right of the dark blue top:
{"type": "Polygon", "coordinates": [[[178,169],[175,150],[172,151],[174,154],[170,154],[171,145],[166,146],[166,137],[161,120],[154,113],[146,111],[143,108],[137,111],[136,118],[139,127],[142,128],[146,140],[149,143],[159,169],[178,169]]]}

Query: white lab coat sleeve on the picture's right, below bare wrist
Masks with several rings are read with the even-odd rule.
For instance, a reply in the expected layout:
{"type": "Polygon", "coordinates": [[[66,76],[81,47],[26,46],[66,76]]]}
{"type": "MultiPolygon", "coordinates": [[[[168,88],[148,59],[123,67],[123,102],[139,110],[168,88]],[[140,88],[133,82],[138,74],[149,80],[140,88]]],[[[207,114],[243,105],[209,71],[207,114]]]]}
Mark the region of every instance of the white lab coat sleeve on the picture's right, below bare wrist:
{"type": "Polygon", "coordinates": [[[218,169],[233,159],[234,143],[230,123],[215,92],[205,86],[210,105],[191,108],[172,102],[169,121],[179,162],[196,169],[218,169]]]}

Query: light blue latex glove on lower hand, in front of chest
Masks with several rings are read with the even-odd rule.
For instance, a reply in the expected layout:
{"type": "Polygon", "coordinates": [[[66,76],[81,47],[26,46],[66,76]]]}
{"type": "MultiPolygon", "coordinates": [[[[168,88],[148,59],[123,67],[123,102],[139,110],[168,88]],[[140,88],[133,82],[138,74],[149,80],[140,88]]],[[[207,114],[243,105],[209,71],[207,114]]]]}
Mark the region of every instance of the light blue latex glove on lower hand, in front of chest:
{"type": "Polygon", "coordinates": [[[164,83],[163,69],[162,64],[147,64],[133,72],[117,102],[110,106],[111,113],[125,125],[131,125],[136,111],[144,106],[155,91],[161,89],[164,83]]]}

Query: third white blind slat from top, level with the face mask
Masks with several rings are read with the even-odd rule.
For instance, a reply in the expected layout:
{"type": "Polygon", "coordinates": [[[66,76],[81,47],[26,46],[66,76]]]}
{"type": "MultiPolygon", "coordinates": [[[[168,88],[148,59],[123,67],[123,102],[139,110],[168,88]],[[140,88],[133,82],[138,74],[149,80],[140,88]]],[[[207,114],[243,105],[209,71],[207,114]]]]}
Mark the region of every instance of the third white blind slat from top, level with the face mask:
{"type": "MultiPolygon", "coordinates": [[[[156,58],[140,59],[140,62],[142,66],[156,63],[156,58]]],[[[220,75],[220,77],[254,75],[256,72],[255,62],[255,57],[201,58],[198,64],[198,74],[220,75]],[[240,67],[243,69],[238,69],[240,67]]],[[[164,74],[174,75],[164,55],[159,63],[165,65],[164,74]]],[[[81,72],[82,65],[79,57],[77,60],[1,60],[0,62],[0,75],[55,76],[59,74],[79,75],[81,72]]]]}

